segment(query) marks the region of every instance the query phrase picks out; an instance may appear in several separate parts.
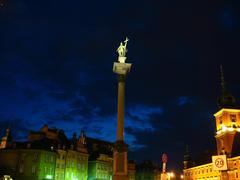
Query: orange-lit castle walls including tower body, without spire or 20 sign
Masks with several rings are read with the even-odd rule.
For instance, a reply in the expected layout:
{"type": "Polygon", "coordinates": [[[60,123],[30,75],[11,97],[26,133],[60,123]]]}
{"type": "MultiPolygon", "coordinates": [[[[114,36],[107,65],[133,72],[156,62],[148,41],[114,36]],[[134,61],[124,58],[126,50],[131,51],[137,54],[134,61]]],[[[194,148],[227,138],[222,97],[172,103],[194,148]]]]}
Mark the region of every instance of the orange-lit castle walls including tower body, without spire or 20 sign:
{"type": "Polygon", "coordinates": [[[216,121],[217,154],[226,154],[228,170],[215,171],[212,163],[184,170],[185,180],[221,179],[226,176],[229,180],[240,179],[240,156],[231,157],[236,133],[240,132],[240,109],[223,108],[214,114],[216,121]]]}

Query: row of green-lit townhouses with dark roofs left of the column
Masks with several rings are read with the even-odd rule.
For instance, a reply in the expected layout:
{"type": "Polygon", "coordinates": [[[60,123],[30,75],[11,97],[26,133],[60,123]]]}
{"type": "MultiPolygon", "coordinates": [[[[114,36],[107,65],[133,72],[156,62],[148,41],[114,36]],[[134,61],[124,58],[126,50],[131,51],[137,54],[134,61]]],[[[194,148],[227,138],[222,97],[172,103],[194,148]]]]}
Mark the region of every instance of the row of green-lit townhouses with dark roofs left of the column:
{"type": "MultiPolygon", "coordinates": [[[[86,137],[69,140],[44,125],[27,142],[13,142],[8,128],[0,142],[0,177],[17,180],[112,180],[113,143],[86,137]]],[[[130,180],[135,179],[135,166],[130,180]],[[133,178],[134,177],[134,178],[133,178]]]]}

